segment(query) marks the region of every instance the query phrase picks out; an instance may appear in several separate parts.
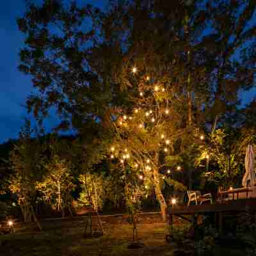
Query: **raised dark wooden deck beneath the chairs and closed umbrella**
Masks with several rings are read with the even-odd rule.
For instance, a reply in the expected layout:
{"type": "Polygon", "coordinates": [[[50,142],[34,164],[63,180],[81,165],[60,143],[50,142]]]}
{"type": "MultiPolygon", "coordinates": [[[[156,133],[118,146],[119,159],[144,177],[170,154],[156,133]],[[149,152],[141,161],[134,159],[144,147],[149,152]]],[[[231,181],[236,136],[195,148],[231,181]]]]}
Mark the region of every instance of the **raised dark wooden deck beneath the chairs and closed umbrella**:
{"type": "Polygon", "coordinates": [[[223,218],[227,214],[234,214],[240,212],[250,211],[256,221],[256,198],[246,198],[239,200],[227,200],[216,202],[215,204],[202,205],[175,205],[168,209],[170,225],[173,224],[173,216],[178,216],[183,220],[190,221],[194,226],[197,225],[197,217],[199,215],[214,214],[215,225],[219,232],[222,232],[223,218]]]}

